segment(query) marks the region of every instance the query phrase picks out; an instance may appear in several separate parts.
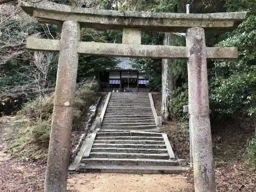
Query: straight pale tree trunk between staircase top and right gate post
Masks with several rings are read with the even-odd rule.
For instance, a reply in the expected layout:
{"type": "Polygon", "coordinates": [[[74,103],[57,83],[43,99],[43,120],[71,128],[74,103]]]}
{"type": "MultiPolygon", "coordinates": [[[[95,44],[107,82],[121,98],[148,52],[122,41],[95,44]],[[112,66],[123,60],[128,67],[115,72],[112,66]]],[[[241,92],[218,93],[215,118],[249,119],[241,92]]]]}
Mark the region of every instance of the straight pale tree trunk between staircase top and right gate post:
{"type": "MultiPolygon", "coordinates": [[[[164,33],[163,45],[170,45],[172,41],[172,34],[164,33]]],[[[168,120],[170,118],[170,101],[172,99],[172,91],[173,91],[173,73],[171,70],[172,60],[170,59],[162,59],[162,118],[168,120]]]]}

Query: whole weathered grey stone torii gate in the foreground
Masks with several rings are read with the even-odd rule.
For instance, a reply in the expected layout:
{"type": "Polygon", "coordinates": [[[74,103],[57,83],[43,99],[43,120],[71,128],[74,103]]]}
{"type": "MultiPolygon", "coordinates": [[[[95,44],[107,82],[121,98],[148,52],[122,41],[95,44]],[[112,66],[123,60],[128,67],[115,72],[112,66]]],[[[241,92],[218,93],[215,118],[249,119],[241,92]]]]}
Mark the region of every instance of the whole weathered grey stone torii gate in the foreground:
{"type": "Polygon", "coordinates": [[[62,25],[60,40],[27,39],[29,49],[59,52],[45,192],[64,192],[67,188],[72,101],[79,54],[187,59],[195,191],[216,191],[206,59],[237,58],[238,50],[206,47],[204,29],[235,28],[245,19],[246,12],[152,13],[84,9],[54,3],[28,2],[22,2],[21,6],[39,22],[62,25]],[[123,29],[122,44],[81,42],[80,27],[123,29]],[[141,45],[141,30],[186,32],[186,47],[141,45]]]}

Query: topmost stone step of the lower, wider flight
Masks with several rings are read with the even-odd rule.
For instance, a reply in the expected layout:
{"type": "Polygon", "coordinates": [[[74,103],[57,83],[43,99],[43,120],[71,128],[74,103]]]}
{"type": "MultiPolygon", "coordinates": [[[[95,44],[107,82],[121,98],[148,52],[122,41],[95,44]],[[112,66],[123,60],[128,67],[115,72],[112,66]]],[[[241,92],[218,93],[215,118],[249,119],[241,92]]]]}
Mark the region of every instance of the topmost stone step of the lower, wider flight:
{"type": "Polygon", "coordinates": [[[151,133],[151,132],[97,132],[96,137],[104,137],[104,136],[144,136],[144,137],[162,137],[161,133],[151,133]]]}

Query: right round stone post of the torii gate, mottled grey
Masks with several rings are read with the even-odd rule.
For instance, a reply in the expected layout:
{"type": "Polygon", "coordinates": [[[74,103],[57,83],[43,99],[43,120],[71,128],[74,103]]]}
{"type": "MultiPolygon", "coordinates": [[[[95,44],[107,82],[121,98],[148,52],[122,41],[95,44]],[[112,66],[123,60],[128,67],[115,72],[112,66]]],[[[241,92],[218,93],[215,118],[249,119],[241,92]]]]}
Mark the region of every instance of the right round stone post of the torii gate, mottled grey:
{"type": "Polygon", "coordinates": [[[188,29],[186,46],[195,192],[215,192],[204,29],[188,29]]]}

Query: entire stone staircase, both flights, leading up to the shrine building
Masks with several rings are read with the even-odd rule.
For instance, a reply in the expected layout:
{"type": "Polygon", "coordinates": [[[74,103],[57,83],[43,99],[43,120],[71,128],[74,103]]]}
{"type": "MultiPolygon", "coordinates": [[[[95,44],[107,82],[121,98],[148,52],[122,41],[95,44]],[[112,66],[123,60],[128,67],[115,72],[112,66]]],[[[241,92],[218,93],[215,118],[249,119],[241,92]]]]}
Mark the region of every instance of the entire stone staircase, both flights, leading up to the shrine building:
{"type": "Polygon", "coordinates": [[[88,134],[70,170],[151,174],[187,170],[180,166],[167,135],[157,129],[150,103],[148,93],[111,93],[101,129],[88,134]]]}

